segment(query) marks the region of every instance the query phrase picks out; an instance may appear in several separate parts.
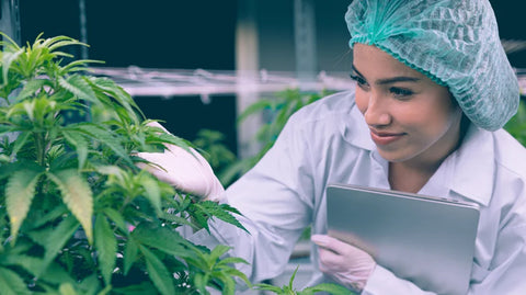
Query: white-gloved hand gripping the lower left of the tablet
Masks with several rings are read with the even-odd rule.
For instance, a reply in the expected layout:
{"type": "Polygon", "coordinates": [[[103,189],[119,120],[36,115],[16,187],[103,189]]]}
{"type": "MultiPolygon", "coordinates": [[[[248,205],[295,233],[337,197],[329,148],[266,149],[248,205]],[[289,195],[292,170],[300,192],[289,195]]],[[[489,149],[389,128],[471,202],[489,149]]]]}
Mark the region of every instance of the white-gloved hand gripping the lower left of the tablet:
{"type": "Polygon", "coordinates": [[[376,266],[373,257],[355,246],[325,235],[312,235],[310,239],[319,247],[320,271],[343,286],[361,293],[376,266]]]}

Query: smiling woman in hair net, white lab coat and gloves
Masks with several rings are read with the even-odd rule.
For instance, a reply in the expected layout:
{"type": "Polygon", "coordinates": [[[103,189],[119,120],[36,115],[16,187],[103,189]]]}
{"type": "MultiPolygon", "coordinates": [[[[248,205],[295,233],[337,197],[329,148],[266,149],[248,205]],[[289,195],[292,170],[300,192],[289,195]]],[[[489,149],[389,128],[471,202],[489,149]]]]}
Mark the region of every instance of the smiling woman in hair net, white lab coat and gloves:
{"type": "MultiPolygon", "coordinates": [[[[355,0],[345,20],[356,88],[297,112],[226,191],[250,235],[216,222],[213,236],[192,239],[232,246],[251,262],[241,270],[261,281],[281,273],[312,225],[310,284],[434,294],[327,236],[324,194],[336,182],[446,196],[481,206],[469,294],[525,294],[526,151],[501,128],[519,94],[489,2],[355,0]]],[[[164,179],[206,186],[185,185],[176,171],[164,179]]]]}

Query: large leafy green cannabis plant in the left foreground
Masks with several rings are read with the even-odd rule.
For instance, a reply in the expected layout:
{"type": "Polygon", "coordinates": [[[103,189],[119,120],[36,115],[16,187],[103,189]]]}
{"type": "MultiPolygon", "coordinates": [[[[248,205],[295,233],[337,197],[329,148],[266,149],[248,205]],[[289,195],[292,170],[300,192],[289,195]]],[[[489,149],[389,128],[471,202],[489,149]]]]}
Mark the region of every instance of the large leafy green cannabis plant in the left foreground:
{"type": "Polygon", "coordinates": [[[84,44],[1,34],[0,294],[233,294],[247,282],[232,268],[243,260],[221,259],[228,247],[178,234],[213,216],[242,227],[238,212],[174,191],[133,156],[188,143],[61,52],[84,44]]]}

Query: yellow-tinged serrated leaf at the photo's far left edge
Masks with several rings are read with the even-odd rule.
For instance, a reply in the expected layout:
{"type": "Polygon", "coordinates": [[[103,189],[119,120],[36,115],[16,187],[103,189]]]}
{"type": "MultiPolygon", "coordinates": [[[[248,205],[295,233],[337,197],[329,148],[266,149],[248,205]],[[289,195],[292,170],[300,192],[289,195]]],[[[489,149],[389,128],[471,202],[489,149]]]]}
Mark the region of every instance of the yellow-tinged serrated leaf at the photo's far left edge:
{"type": "Polygon", "coordinates": [[[11,223],[12,243],[15,242],[20,226],[27,216],[35,196],[35,186],[42,170],[24,169],[15,171],[5,185],[5,206],[11,223]]]}

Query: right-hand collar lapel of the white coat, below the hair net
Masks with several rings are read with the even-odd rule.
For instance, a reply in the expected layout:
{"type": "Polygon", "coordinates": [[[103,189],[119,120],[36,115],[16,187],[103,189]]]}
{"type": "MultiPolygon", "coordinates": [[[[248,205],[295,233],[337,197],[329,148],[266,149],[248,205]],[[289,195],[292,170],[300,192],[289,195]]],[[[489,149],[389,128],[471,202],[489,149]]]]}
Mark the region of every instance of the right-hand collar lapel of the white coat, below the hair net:
{"type": "Polygon", "coordinates": [[[494,185],[493,144],[490,132],[471,124],[460,147],[446,159],[453,166],[450,190],[484,206],[494,185]]]}

